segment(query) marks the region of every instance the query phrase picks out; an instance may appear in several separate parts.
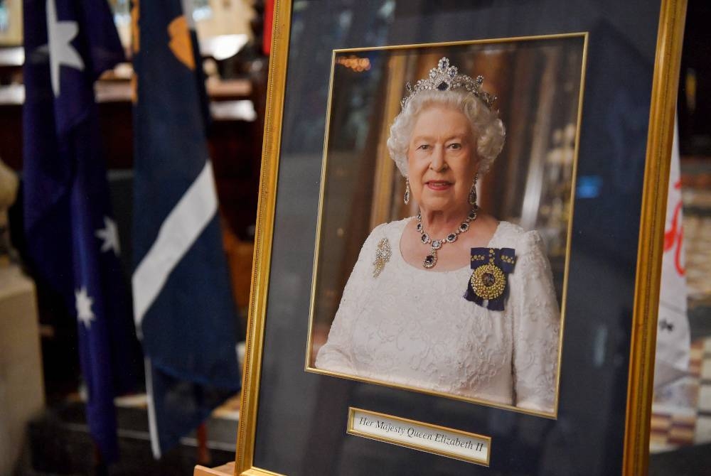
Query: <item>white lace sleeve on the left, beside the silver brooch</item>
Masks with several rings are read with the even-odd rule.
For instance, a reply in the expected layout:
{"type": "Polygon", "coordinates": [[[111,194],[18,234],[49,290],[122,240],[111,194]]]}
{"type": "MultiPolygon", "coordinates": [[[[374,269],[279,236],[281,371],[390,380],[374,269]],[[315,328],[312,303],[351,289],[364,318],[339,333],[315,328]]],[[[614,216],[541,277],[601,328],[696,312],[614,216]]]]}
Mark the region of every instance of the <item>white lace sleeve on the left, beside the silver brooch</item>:
{"type": "Polygon", "coordinates": [[[316,368],[355,374],[353,366],[353,320],[360,312],[368,293],[368,284],[373,280],[373,259],[375,257],[376,237],[380,234],[380,225],[373,229],[360,249],[358,261],[353,266],[346,288],[343,289],[341,303],[336,317],[333,318],[326,344],[316,355],[316,368]]]}

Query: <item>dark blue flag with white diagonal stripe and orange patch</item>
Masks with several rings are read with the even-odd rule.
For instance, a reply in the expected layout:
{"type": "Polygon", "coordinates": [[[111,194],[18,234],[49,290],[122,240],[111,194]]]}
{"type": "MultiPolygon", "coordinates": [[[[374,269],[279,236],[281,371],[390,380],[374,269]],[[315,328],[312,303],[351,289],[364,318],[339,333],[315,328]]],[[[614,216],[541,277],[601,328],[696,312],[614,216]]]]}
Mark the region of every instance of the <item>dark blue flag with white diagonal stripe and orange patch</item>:
{"type": "Polygon", "coordinates": [[[202,65],[181,3],[141,0],[132,15],[132,284],[156,458],[240,389],[235,304],[201,108],[204,83],[196,80],[202,65]]]}

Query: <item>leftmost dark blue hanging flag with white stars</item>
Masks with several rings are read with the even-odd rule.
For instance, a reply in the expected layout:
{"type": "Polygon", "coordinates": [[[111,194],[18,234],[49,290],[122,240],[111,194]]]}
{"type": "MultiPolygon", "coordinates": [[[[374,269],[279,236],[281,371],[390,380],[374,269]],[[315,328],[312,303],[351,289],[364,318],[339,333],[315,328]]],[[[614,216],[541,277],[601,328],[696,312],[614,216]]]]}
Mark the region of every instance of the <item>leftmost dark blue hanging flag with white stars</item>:
{"type": "Polygon", "coordinates": [[[117,458],[114,396],[135,339],[100,153],[94,82],[124,58],[105,0],[25,0],[24,223],[38,279],[76,315],[87,421],[117,458]],[[133,338],[133,340],[132,340],[133,338]]]}

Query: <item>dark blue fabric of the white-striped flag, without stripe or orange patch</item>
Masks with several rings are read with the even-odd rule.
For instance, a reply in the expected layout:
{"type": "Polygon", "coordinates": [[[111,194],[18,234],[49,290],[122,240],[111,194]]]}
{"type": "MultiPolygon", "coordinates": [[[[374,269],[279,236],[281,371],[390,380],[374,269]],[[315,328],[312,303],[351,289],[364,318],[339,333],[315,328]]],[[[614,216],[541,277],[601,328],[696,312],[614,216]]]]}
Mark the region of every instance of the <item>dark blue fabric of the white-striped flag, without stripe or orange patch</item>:
{"type": "MultiPolygon", "coordinates": [[[[169,46],[169,25],[182,15],[181,1],[141,1],[139,10],[134,203],[140,206],[134,211],[134,266],[208,160],[198,89],[204,82],[169,46]]],[[[195,48],[193,43],[193,58],[195,48]]],[[[141,323],[161,453],[240,389],[236,320],[215,215],[171,271],[141,323]]]]}

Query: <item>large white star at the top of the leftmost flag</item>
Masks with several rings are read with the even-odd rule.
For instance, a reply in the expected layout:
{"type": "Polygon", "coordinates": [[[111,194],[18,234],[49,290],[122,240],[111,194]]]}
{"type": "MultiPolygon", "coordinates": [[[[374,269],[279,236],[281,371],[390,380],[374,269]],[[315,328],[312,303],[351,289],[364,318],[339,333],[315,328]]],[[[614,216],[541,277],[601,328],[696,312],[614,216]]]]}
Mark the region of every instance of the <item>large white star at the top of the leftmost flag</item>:
{"type": "Polygon", "coordinates": [[[47,0],[47,36],[49,40],[49,65],[54,96],[59,96],[59,68],[61,65],[84,69],[84,61],[70,44],[77,36],[76,21],[58,21],[56,0],[47,0]]]}

